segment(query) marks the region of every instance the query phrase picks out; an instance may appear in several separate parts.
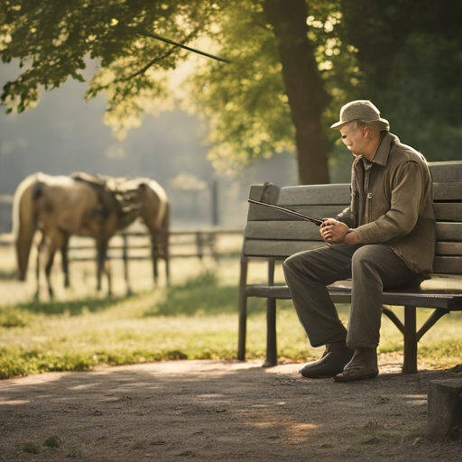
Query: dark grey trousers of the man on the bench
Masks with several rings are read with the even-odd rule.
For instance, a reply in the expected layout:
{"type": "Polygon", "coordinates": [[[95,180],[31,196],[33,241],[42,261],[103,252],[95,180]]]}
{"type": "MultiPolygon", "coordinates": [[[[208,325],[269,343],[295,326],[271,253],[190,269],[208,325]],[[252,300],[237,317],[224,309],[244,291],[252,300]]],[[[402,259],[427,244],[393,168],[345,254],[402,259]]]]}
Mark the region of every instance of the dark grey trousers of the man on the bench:
{"type": "Polygon", "coordinates": [[[377,347],[383,287],[410,284],[418,274],[387,245],[337,245],[300,252],[282,265],[292,301],[310,344],[347,338],[351,348],[377,347]],[[351,278],[348,329],[338,319],[326,286],[351,278]]]}

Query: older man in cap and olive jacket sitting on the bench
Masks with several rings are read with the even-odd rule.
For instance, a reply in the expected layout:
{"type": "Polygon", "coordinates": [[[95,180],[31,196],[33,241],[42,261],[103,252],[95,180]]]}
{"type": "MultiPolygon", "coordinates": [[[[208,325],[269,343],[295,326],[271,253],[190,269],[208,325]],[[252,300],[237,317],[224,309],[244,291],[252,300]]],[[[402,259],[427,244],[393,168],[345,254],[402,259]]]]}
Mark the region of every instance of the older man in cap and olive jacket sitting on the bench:
{"type": "Polygon", "coordinates": [[[389,133],[371,102],[343,106],[331,128],[355,156],[351,206],[320,226],[327,247],[292,255],[283,270],[310,344],[326,346],[300,374],[347,382],[378,374],[383,287],[419,285],[431,273],[436,226],[427,162],[389,133]],[[345,328],[326,286],[349,278],[345,328]]]}

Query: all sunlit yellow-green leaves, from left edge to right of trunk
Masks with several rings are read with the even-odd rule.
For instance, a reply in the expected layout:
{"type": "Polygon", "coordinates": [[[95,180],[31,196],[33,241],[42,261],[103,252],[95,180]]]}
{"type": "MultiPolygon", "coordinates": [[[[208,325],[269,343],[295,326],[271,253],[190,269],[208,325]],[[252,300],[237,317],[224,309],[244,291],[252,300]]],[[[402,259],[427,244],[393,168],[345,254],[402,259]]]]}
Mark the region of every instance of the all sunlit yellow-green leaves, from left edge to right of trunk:
{"type": "MultiPolygon", "coordinates": [[[[184,44],[207,37],[208,46],[232,63],[208,60],[198,66],[187,106],[208,118],[216,166],[236,171],[295,145],[282,64],[263,5],[263,0],[3,3],[0,57],[4,62],[19,59],[23,71],[5,85],[1,99],[8,111],[33,107],[41,86],[56,88],[69,77],[82,80],[89,57],[100,67],[86,97],[107,94],[106,123],[123,137],[140,125],[143,111],[165,107],[169,72],[191,56],[150,33],[184,44]]],[[[351,52],[337,40],[339,8],[339,0],[310,2],[309,38],[334,98],[345,97],[355,72],[351,52]]]]}

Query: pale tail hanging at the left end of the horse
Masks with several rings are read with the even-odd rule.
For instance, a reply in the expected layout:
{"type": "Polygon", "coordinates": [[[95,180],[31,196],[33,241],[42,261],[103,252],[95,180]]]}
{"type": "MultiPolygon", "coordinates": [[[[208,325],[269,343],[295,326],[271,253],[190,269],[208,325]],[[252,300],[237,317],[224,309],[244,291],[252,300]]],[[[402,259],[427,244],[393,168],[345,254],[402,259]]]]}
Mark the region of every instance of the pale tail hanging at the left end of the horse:
{"type": "Polygon", "coordinates": [[[37,230],[33,196],[40,195],[38,177],[39,174],[35,173],[21,181],[13,197],[12,234],[16,245],[17,275],[20,281],[25,280],[32,239],[37,230]]]}

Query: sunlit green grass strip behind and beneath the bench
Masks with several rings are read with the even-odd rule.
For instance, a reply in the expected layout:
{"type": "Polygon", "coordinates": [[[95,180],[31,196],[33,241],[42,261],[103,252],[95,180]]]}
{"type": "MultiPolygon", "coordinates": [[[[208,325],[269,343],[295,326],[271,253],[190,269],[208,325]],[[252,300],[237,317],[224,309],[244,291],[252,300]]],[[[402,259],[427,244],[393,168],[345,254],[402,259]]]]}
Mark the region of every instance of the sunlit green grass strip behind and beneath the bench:
{"type": "MultiPolygon", "coordinates": [[[[0,308],[0,378],[166,359],[236,358],[236,282],[217,273],[206,271],[171,288],[129,298],[0,308]]],[[[247,358],[265,356],[265,310],[265,300],[249,300],[247,358]]],[[[348,307],[338,310],[347,323],[348,307]]],[[[428,340],[420,342],[420,358],[427,364],[462,362],[457,341],[461,314],[440,320],[439,327],[424,337],[428,340]]],[[[422,310],[419,318],[426,316],[422,310]]],[[[277,326],[281,358],[301,362],[319,356],[319,349],[309,347],[291,301],[278,301],[277,326]]],[[[387,319],[383,319],[380,351],[402,351],[402,336],[387,319]]]]}

